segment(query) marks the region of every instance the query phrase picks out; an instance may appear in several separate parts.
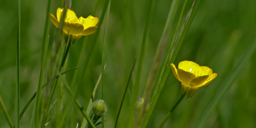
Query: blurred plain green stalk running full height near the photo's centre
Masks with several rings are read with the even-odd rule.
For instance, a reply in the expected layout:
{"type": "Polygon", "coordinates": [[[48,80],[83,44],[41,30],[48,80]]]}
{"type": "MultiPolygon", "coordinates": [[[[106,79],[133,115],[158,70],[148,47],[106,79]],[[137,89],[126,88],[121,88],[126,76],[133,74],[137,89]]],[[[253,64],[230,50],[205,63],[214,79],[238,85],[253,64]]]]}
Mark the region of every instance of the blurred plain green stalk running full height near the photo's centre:
{"type": "Polygon", "coordinates": [[[143,60],[144,60],[146,41],[147,41],[147,37],[148,37],[148,29],[149,29],[149,25],[152,20],[154,7],[155,7],[155,0],[150,0],[148,13],[146,15],[146,23],[145,23],[145,27],[144,27],[142,44],[141,44],[141,51],[140,51],[140,58],[139,58],[139,62],[138,62],[136,82],[135,82],[135,86],[134,86],[131,108],[130,108],[129,118],[128,118],[128,127],[129,128],[133,127],[133,125],[134,125],[135,103],[137,101],[137,97],[138,97],[138,93],[139,93],[141,69],[142,69],[143,60]]]}

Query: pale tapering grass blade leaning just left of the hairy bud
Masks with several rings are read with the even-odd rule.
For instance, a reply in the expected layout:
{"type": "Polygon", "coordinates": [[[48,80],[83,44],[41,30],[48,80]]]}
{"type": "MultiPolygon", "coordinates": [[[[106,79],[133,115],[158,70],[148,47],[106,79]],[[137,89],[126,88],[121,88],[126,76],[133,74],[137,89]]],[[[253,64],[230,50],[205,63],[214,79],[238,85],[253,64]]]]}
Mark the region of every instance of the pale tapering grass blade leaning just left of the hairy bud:
{"type": "MultiPolygon", "coordinates": [[[[105,64],[105,66],[104,66],[104,69],[105,69],[105,67],[106,67],[106,64],[105,64]]],[[[87,109],[86,109],[86,114],[87,114],[87,115],[90,114],[91,105],[92,105],[92,103],[93,103],[94,96],[95,96],[95,93],[96,93],[96,90],[97,90],[97,88],[98,88],[98,85],[99,85],[99,82],[100,82],[100,81],[101,81],[101,74],[99,75],[99,79],[98,79],[98,81],[96,82],[96,85],[95,85],[95,87],[94,87],[94,89],[93,89],[93,93],[91,94],[91,99],[90,99],[90,101],[89,101],[89,103],[88,103],[88,106],[87,106],[87,109]]],[[[85,128],[85,127],[87,126],[87,124],[88,124],[88,122],[87,122],[86,118],[84,118],[84,120],[83,120],[83,122],[82,122],[82,125],[81,125],[81,128],[85,128]]]]}

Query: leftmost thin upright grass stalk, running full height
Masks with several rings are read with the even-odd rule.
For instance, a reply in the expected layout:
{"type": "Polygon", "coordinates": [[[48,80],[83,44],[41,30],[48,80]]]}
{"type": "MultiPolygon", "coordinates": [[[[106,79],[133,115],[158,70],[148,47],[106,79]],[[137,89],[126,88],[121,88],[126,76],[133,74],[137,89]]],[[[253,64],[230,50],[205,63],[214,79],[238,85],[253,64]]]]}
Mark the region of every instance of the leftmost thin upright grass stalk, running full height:
{"type": "Polygon", "coordinates": [[[21,25],[21,1],[18,0],[18,39],[17,39],[17,63],[16,63],[16,85],[15,85],[15,124],[20,127],[20,25],[21,25]]]}

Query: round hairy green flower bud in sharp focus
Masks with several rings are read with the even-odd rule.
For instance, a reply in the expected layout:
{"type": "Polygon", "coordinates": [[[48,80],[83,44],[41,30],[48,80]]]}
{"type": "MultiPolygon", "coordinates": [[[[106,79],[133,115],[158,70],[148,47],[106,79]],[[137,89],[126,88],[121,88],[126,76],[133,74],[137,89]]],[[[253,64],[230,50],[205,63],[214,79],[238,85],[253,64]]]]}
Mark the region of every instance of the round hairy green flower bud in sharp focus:
{"type": "Polygon", "coordinates": [[[106,111],[106,104],[102,99],[96,100],[92,105],[93,114],[100,116],[106,111]]]}

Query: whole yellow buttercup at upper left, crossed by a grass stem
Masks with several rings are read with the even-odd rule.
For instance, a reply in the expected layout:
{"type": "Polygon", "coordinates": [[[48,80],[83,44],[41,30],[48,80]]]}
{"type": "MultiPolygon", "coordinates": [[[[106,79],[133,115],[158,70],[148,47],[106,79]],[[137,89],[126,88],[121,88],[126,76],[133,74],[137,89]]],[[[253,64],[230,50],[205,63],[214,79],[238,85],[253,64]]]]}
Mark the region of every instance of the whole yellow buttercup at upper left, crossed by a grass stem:
{"type": "MultiPolygon", "coordinates": [[[[50,20],[59,28],[60,18],[63,16],[64,8],[57,9],[57,19],[50,14],[50,20]]],[[[76,17],[76,13],[70,9],[67,9],[66,16],[63,23],[63,34],[72,35],[72,43],[74,44],[82,35],[90,35],[97,31],[98,27],[95,26],[99,21],[99,18],[88,16],[87,18],[76,17]]]]}

